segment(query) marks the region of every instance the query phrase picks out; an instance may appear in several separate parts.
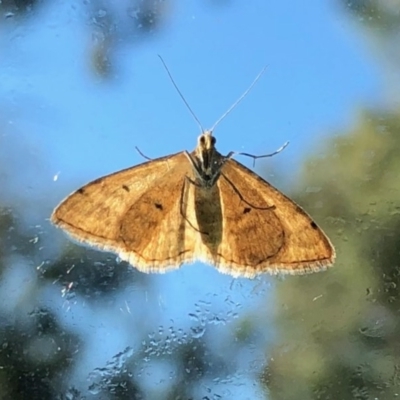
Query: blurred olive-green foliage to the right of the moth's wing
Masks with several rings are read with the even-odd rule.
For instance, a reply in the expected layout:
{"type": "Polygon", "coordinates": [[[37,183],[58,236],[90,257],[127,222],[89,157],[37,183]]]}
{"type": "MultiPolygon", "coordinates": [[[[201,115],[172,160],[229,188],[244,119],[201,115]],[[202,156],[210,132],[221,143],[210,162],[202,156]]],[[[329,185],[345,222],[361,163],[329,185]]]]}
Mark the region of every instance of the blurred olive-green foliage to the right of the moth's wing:
{"type": "Polygon", "coordinates": [[[337,249],[328,272],[279,284],[271,398],[392,399],[400,379],[400,112],[363,112],[303,171],[298,196],[337,249]]]}

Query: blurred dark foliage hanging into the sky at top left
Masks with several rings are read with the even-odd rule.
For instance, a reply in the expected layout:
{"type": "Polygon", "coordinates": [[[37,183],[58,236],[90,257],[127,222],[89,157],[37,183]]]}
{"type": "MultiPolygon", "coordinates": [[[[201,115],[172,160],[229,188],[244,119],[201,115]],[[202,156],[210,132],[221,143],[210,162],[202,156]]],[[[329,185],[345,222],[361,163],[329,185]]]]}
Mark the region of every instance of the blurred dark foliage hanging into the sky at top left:
{"type": "MultiPolygon", "coordinates": [[[[24,24],[35,17],[48,1],[0,1],[0,13],[7,19],[24,24]]],[[[170,0],[128,0],[124,2],[92,0],[81,2],[91,44],[88,62],[92,71],[103,79],[118,75],[115,71],[116,54],[123,46],[138,45],[159,33],[166,23],[170,0]]],[[[71,4],[71,7],[74,5],[71,4]]],[[[75,6],[76,7],[76,6],[75,6]]],[[[76,17],[75,17],[76,18],[76,17]]]]}

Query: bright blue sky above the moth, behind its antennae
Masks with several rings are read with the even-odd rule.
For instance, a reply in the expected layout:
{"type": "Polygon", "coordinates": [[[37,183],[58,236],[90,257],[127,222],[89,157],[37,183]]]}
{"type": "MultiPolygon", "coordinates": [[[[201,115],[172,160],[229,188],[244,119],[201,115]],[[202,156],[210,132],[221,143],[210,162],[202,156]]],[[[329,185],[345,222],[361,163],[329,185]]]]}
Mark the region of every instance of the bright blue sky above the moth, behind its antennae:
{"type": "Polygon", "coordinates": [[[68,169],[68,180],[141,162],[136,145],[152,157],[195,146],[197,125],[157,54],[206,127],[268,65],[215,134],[223,153],[270,152],[290,140],[274,160],[288,168],[321,134],[347,125],[359,103],[379,98],[365,42],[331,2],[175,2],[159,35],[119,47],[117,76],[105,83],[90,71],[83,6],[71,3],[43,8],[23,28],[11,21],[2,51],[3,95],[12,92],[19,107],[14,122],[49,151],[55,170],[68,169]]]}

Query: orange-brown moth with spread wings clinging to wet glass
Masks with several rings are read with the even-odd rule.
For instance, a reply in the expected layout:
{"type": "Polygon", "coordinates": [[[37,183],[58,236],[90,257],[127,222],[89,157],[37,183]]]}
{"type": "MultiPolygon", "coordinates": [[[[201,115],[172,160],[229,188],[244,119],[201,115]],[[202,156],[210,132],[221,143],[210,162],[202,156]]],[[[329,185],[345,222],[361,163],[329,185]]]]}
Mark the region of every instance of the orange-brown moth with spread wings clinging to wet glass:
{"type": "Polygon", "coordinates": [[[249,278],[333,264],[335,250],[312,218],[233,155],[217,151],[213,129],[202,130],[194,151],[96,179],[63,200],[51,221],[146,273],[196,260],[249,278]]]}

